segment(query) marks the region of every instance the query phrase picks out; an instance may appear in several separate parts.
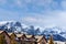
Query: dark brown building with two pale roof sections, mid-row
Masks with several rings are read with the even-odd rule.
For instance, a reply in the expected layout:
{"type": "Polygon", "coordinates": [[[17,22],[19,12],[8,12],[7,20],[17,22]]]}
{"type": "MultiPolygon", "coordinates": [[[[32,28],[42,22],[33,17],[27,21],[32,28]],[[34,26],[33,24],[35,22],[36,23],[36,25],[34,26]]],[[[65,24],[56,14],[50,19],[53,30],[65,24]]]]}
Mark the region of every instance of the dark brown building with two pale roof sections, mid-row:
{"type": "Polygon", "coordinates": [[[35,44],[35,37],[33,35],[16,34],[16,36],[20,38],[20,44],[35,44]]]}

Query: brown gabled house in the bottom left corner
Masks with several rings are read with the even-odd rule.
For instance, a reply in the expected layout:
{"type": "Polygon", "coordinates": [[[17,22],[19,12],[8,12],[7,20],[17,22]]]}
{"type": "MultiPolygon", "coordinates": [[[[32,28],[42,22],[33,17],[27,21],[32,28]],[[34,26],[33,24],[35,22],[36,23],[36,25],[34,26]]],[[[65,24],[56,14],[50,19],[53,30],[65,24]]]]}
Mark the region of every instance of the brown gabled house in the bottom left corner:
{"type": "Polygon", "coordinates": [[[0,43],[2,42],[1,44],[10,44],[10,36],[6,31],[0,31],[0,43]]]}

